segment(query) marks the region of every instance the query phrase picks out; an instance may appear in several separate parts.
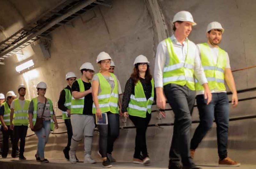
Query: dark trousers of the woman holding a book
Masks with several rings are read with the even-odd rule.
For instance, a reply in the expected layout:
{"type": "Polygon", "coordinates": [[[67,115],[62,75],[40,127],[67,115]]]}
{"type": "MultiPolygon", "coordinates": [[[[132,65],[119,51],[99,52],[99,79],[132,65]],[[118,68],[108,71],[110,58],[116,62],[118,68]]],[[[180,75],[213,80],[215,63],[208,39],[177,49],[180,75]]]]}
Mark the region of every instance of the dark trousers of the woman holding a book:
{"type": "MultiPolygon", "coordinates": [[[[119,136],[119,114],[108,112],[108,125],[97,125],[100,132],[99,151],[101,157],[107,157],[107,153],[113,151],[114,142],[119,136]]],[[[94,114],[95,119],[95,114],[94,114]]]]}

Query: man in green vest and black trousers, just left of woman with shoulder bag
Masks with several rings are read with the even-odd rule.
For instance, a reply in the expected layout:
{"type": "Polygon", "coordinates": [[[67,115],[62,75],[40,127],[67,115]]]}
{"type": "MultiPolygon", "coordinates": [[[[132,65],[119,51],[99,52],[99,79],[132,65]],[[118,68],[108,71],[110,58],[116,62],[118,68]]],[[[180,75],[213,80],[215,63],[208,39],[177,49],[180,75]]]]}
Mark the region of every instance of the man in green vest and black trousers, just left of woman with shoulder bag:
{"type": "MultiPolygon", "coordinates": [[[[12,101],[11,115],[10,115],[10,128],[14,129],[13,147],[14,150],[18,148],[18,142],[20,140],[20,154],[19,159],[25,160],[25,138],[28,130],[28,107],[30,100],[25,99],[26,87],[25,85],[19,85],[18,87],[19,98],[12,101]]],[[[16,155],[15,151],[12,151],[12,157],[16,155]]]]}

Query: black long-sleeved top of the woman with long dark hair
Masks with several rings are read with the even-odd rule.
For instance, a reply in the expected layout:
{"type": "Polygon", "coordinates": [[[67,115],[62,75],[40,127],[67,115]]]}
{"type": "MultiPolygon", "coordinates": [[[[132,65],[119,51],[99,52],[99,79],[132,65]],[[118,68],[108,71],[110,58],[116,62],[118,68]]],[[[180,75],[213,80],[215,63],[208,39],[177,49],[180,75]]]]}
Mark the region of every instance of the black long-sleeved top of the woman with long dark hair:
{"type": "MultiPolygon", "coordinates": [[[[143,87],[146,99],[148,100],[151,97],[151,92],[152,92],[152,85],[151,82],[149,81],[148,83],[146,82],[145,79],[140,78],[140,83],[143,87]]],[[[122,112],[127,112],[127,108],[129,106],[129,102],[130,102],[130,97],[131,94],[134,94],[134,88],[135,85],[133,83],[132,78],[130,77],[126,84],[125,84],[125,88],[124,88],[124,95],[123,95],[123,101],[122,101],[122,112]]],[[[154,92],[156,93],[155,89],[154,92]]],[[[154,100],[156,100],[156,94],[154,94],[154,100]]]]}

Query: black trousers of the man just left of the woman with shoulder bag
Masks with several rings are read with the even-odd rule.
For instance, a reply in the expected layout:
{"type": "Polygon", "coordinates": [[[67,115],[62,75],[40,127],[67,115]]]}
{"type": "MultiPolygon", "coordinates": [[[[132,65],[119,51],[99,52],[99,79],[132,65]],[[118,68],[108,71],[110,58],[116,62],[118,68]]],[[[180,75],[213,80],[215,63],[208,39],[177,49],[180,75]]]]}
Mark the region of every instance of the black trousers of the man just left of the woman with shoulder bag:
{"type": "Polygon", "coordinates": [[[28,126],[14,126],[14,138],[12,144],[12,156],[15,156],[16,150],[18,149],[18,142],[20,140],[20,154],[22,157],[25,149],[25,139],[27,136],[28,126]],[[14,151],[15,150],[15,151],[14,151]]]}

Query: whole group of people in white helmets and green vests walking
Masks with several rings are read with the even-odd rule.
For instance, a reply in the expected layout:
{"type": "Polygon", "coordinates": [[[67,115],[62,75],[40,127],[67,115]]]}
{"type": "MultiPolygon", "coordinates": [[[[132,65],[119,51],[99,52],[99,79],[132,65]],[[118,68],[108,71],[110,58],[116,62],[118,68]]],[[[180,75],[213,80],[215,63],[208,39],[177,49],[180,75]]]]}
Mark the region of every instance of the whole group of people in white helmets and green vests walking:
{"type": "MultiPolygon", "coordinates": [[[[192,27],[196,25],[188,11],[176,13],[172,23],[173,35],[161,41],[157,47],[154,79],[147,57],[137,56],[131,77],[125,85],[122,103],[120,83],[114,74],[115,64],[108,53],[101,52],[97,56],[100,71],[96,74],[90,62],[80,67],[80,78],[73,72],[67,73],[68,85],[60,92],[58,107],[68,132],[68,143],[63,153],[70,163],[78,161],[76,150],[83,137],[84,163],[96,163],[91,157],[91,150],[93,130],[97,125],[100,134],[98,154],[102,158],[103,167],[111,167],[116,162],[112,151],[119,136],[119,116],[124,115],[136,127],[133,163],[149,164],[146,131],[151,119],[151,107],[155,100],[160,113],[165,117],[167,100],[174,113],[169,169],[200,169],[194,164],[193,158],[199,143],[212,127],[213,119],[217,124],[219,165],[240,165],[227,155],[229,105],[225,81],[233,93],[234,107],[238,99],[228,53],[218,46],[224,29],[220,23],[211,22],[206,29],[207,42],[195,45],[188,40],[192,27]],[[190,141],[195,99],[200,124],[190,141]],[[102,118],[107,119],[106,124],[97,123],[102,118]]],[[[50,131],[54,127],[58,129],[58,123],[52,101],[44,96],[46,84],[40,82],[36,89],[38,96],[31,101],[24,98],[24,85],[18,88],[19,99],[15,99],[16,95],[12,91],[6,94],[7,100],[0,107],[4,135],[3,158],[7,157],[8,139],[14,130],[12,157],[16,157],[20,139],[19,158],[26,159],[23,153],[28,123],[35,130],[36,121],[43,118],[42,128],[35,131],[38,137],[35,157],[37,161],[49,162],[44,158],[44,147],[50,131]]]]}

